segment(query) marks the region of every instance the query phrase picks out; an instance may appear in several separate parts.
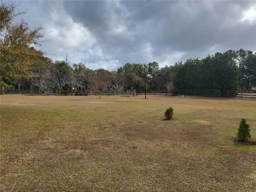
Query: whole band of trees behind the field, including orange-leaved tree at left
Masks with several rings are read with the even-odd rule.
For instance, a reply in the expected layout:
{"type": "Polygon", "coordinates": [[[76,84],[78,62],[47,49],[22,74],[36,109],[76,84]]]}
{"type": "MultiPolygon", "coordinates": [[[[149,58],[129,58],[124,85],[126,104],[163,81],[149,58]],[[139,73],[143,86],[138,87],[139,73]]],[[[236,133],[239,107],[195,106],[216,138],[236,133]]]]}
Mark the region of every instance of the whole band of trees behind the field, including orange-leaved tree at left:
{"type": "Polygon", "coordinates": [[[116,70],[87,68],[83,63],[55,61],[44,56],[41,27],[12,20],[13,4],[1,4],[0,84],[7,89],[47,90],[251,90],[256,87],[256,53],[228,50],[207,57],[178,61],[159,68],[157,62],[126,63],[116,70]]]}

